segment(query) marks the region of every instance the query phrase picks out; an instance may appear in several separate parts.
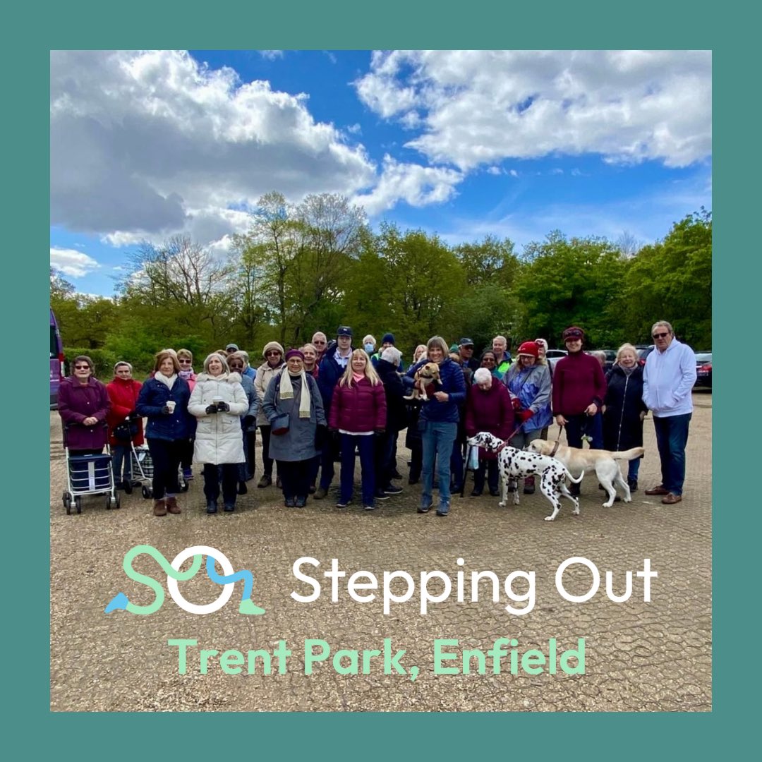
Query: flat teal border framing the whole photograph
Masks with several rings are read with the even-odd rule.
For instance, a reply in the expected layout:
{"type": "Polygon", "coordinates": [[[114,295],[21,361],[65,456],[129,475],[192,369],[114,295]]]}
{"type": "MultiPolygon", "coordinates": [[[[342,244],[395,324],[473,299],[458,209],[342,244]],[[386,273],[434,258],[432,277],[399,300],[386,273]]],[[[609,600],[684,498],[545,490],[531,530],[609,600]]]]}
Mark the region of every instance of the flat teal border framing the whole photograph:
{"type": "MultiPolygon", "coordinates": [[[[757,649],[751,630],[758,596],[744,591],[756,581],[750,559],[757,539],[758,507],[742,495],[738,475],[759,471],[747,447],[735,447],[739,421],[753,410],[751,400],[727,389],[731,351],[736,378],[753,383],[755,360],[743,360],[754,347],[758,319],[748,305],[757,277],[753,269],[757,236],[748,220],[758,215],[756,155],[758,123],[749,118],[747,101],[756,101],[758,70],[751,37],[756,24],[734,14],[737,3],[713,11],[700,3],[641,2],[616,6],[601,2],[546,2],[529,7],[485,2],[427,7],[389,0],[378,6],[357,2],[290,2],[202,5],[198,2],[131,2],[106,5],[68,3],[52,8],[20,6],[5,13],[8,45],[2,56],[6,72],[6,190],[11,210],[6,223],[6,345],[44,345],[41,322],[46,290],[43,280],[49,247],[48,52],[51,48],[190,47],[190,48],[351,48],[426,47],[615,47],[636,46],[712,49],[716,146],[714,184],[716,215],[716,344],[720,373],[715,386],[716,510],[715,549],[715,694],[711,714],[688,715],[87,715],[49,712],[48,617],[43,598],[49,590],[48,488],[37,476],[47,441],[45,411],[9,406],[6,431],[12,431],[14,455],[6,461],[5,564],[6,719],[23,731],[21,742],[34,751],[76,755],[79,759],[160,754],[226,754],[242,751],[265,759],[297,754],[334,759],[399,757],[480,759],[522,752],[595,759],[631,754],[666,757],[671,751],[703,758],[738,748],[751,736],[751,710],[758,706],[752,664],[757,649]],[[746,138],[746,139],[744,139],[746,138]],[[755,192],[756,191],[756,192],[755,192]],[[744,225],[744,223],[747,223],[744,225]],[[746,251],[749,254],[746,255],[746,251]],[[28,254],[27,254],[28,252],[28,254]],[[754,253],[752,253],[754,252],[754,253]],[[749,277],[738,277],[748,273],[749,277]],[[34,285],[33,285],[34,284],[34,285]],[[733,331],[731,331],[731,323],[733,331]],[[734,338],[738,337],[738,338],[734,338]],[[748,363],[748,364],[747,364],[748,363]],[[722,443],[724,447],[717,447],[722,443]],[[22,488],[21,484],[30,485],[22,488]],[[745,499],[744,499],[745,498],[745,499]],[[756,527],[753,525],[756,524],[756,527]],[[745,607],[745,609],[744,609],[745,607]],[[748,613],[747,613],[748,612],[748,613]],[[750,631],[746,632],[742,627],[750,631]],[[544,731],[544,732],[543,732],[544,731]],[[555,731],[555,732],[554,732],[555,731]],[[538,735],[543,732],[543,735],[538,735]]],[[[756,289],[755,289],[756,291],[756,289]]],[[[697,294],[701,299],[704,295],[697,294]]],[[[754,293],[754,296],[757,296],[754,293]]],[[[758,297],[757,297],[758,299],[758,297]]],[[[8,351],[11,357],[16,354],[8,351]]],[[[753,350],[751,351],[753,352],[753,350]]],[[[750,352],[750,354],[751,354],[750,352]]],[[[757,353],[753,353],[757,354],[757,353]]],[[[36,368],[37,360],[33,367],[36,368]]],[[[45,399],[35,376],[24,383],[30,399],[45,399]]],[[[13,373],[13,372],[11,372],[13,373]]],[[[13,376],[18,376],[18,367],[13,376]]],[[[17,381],[18,384],[18,381],[17,381]]],[[[21,389],[20,386],[16,388],[21,389]]],[[[752,393],[753,389],[752,389],[752,393]]],[[[24,394],[25,396],[25,394],[24,394]]],[[[40,468],[40,474],[44,469],[40,468]]],[[[35,755],[37,756],[37,755],[35,755]]]]}

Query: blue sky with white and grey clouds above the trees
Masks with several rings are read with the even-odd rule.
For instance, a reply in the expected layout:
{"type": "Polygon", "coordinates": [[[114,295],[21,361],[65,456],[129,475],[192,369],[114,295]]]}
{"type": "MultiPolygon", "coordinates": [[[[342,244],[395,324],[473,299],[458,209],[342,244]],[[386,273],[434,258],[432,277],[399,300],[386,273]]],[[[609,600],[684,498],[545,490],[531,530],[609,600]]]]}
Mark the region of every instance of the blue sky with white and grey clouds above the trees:
{"type": "Polygon", "coordinates": [[[709,51],[53,51],[50,263],[111,296],[280,191],[455,245],[668,234],[712,209],[709,51]]]}

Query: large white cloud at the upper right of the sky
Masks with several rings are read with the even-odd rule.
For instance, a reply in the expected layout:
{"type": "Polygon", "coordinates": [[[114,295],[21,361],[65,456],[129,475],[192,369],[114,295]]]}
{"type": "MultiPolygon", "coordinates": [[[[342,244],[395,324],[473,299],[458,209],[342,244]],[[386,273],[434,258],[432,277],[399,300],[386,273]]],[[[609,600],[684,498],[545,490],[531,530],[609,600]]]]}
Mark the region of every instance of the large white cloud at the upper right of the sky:
{"type": "Polygon", "coordinates": [[[464,171],[554,152],[669,167],[711,154],[709,51],[376,52],[355,86],[379,116],[423,120],[408,147],[464,171]]]}

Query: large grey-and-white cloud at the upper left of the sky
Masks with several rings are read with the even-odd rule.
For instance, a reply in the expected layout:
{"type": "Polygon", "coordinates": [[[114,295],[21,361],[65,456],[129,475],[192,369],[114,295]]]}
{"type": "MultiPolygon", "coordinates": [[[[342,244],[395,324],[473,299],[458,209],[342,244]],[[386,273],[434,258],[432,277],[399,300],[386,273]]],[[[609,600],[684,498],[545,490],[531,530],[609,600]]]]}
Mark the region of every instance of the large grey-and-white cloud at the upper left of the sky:
{"type": "Polygon", "coordinates": [[[231,203],[372,186],[363,146],[308,100],[184,52],[53,51],[51,223],[120,242],[228,223],[219,239],[231,203]]]}

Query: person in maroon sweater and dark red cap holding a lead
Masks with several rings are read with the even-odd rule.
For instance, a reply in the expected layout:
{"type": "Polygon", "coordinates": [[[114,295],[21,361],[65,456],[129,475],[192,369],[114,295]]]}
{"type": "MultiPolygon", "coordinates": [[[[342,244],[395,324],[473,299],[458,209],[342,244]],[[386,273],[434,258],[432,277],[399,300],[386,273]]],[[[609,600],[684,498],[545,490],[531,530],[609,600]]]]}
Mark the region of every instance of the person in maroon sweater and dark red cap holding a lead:
{"type": "MultiPolygon", "coordinates": [[[[600,363],[582,351],[584,331],[576,325],[563,332],[568,354],[553,370],[553,415],[559,426],[566,427],[569,447],[582,447],[583,434],[589,437],[590,447],[604,447],[603,423],[600,408],[606,396],[606,377],[600,363]]],[[[571,485],[571,494],[579,494],[579,485],[571,485]]]]}

